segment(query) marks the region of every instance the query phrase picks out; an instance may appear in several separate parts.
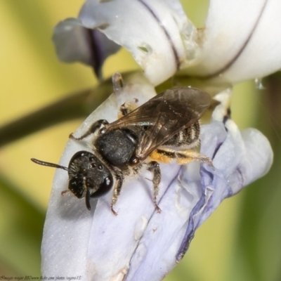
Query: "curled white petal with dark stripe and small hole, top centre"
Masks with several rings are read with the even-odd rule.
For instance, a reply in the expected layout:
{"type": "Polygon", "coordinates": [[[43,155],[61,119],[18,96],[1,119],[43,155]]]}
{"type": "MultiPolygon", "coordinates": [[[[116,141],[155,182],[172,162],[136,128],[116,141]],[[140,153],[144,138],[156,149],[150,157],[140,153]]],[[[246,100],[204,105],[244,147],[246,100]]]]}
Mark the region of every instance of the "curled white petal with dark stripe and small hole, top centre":
{"type": "Polygon", "coordinates": [[[152,84],[174,75],[183,60],[195,58],[196,29],[178,1],[88,0],[79,19],[127,48],[152,84]]]}

